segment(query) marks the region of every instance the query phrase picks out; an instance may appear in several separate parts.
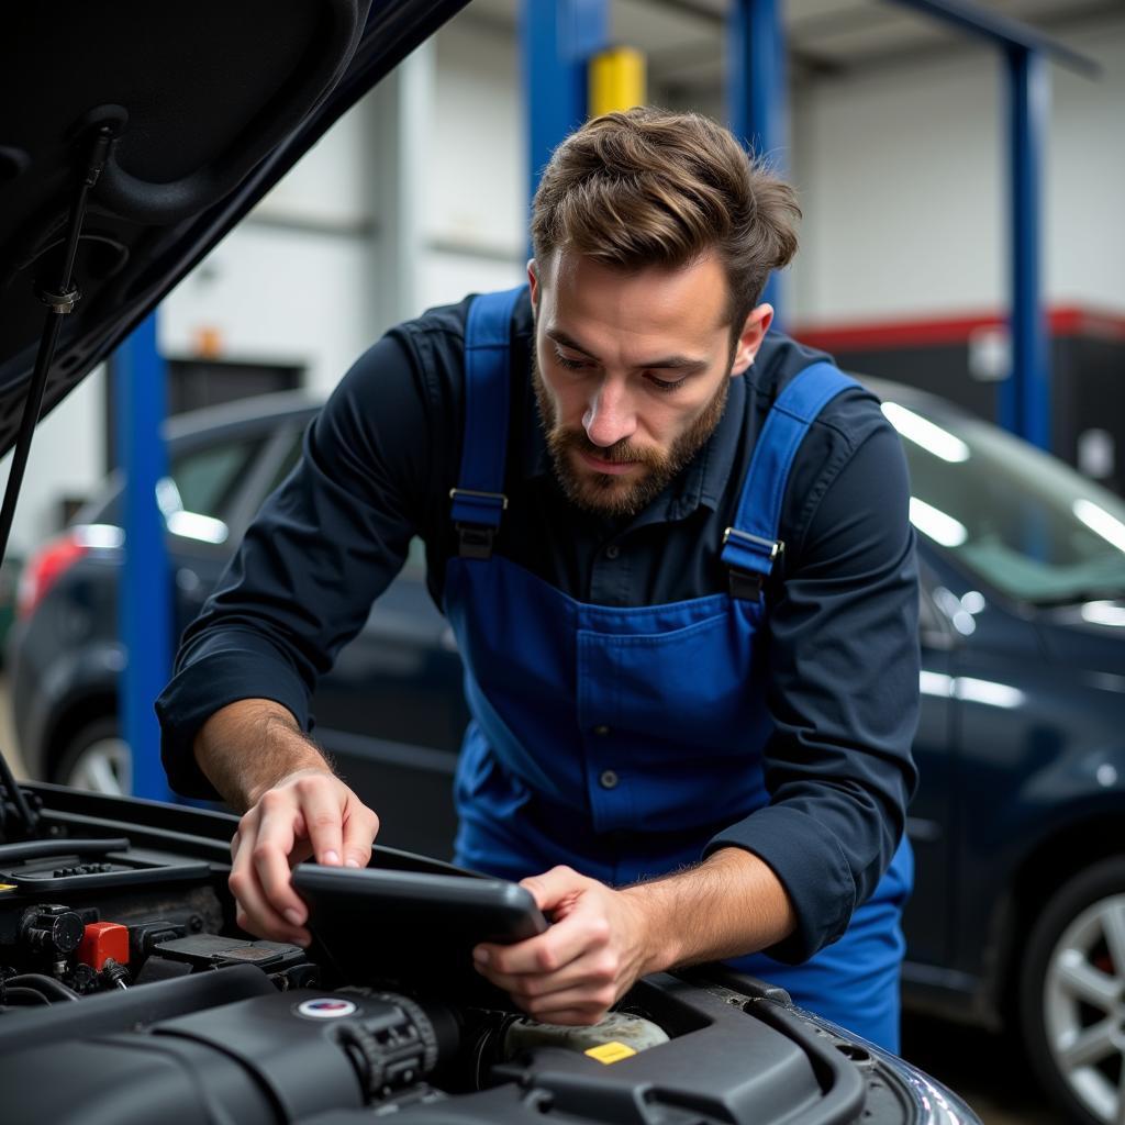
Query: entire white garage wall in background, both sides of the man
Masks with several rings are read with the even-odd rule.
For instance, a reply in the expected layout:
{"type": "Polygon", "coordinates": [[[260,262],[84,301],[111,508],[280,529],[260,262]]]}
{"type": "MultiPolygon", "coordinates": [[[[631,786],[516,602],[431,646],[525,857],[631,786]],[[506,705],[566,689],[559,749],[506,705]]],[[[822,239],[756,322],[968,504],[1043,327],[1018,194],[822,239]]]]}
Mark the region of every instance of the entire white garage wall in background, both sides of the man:
{"type": "MultiPolygon", "coordinates": [[[[206,330],[224,357],[300,363],[309,389],[327,393],[386,326],[386,297],[405,286],[403,269],[413,271],[413,312],[522,279],[515,39],[502,24],[470,17],[471,9],[425,48],[430,127],[389,135],[378,94],[345,115],[164,302],[166,353],[197,353],[206,330]],[[372,161],[407,158],[429,171],[416,186],[414,250],[404,259],[388,252],[400,216],[372,161]]],[[[1125,14],[1066,42],[1101,60],[1106,73],[1090,82],[1051,69],[1048,298],[1125,313],[1125,14]]],[[[994,54],[974,46],[794,91],[791,166],[807,218],[788,280],[791,323],[1001,307],[1001,93],[994,54]]],[[[700,88],[694,97],[713,110],[717,94],[700,88]]],[[[102,413],[90,380],[40,431],[16,550],[52,530],[58,495],[99,479],[102,413]]]]}

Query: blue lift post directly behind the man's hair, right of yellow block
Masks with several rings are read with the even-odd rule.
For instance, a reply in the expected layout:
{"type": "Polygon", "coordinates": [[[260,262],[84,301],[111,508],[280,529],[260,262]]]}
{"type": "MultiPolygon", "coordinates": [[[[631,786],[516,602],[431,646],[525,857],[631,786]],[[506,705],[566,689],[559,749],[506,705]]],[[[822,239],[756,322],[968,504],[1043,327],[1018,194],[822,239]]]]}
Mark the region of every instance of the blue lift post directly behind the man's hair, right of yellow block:
{"type": "MultiPolygon", "coordinates": [[[[727,123],[782,174],[789,166],[788,47],[782,0],[732,0],[727,16],[727,123]]],[[[776,274],[763,300],[778,308],[776,274]]],[[[777,322],[780,324],[780,321],[777,322]]]]}

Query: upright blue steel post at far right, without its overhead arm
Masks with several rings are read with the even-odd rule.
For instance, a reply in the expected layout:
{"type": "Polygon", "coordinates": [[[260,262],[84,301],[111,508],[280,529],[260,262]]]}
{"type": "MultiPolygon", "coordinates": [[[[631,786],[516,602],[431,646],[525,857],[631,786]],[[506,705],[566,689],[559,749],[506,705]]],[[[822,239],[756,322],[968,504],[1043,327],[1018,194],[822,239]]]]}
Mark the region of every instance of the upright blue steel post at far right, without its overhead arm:
{"type": "Polygon", "coordinates": [[[1011,181],[1011,366],[1000,395],[1002,424],[1051,449],[1051,364],[1042,305],[1041,197],[1050,87],[1046,61],[1009,46],[1008,116],[1011,181]]]}

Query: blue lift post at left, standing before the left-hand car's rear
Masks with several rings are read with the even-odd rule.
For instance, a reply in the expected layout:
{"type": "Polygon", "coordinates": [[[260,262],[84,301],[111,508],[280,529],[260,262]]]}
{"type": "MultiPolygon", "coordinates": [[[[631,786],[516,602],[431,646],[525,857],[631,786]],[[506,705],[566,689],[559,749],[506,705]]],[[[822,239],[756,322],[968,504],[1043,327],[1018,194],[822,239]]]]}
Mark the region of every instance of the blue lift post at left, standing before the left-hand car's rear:
{"type": "Polygon", "coordinates": [[[122,736],[132,750],[133,793],[174,800],[160,764],[153,701],[168,683],[172,650],[171,572],[156,485],[168,475],[161,436],[165,371],[151,313],[122,344],[112,363],[117,464],[125,475],[125,567],[118,586],[118,624],[127,654],[118,699],[122,736]]]}

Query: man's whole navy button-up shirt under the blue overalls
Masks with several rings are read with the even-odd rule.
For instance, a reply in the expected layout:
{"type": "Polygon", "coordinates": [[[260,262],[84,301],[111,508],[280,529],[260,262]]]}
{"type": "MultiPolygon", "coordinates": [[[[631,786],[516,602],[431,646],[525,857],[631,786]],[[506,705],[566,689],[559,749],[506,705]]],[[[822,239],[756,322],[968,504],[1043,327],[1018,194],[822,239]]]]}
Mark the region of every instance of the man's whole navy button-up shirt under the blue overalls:
{"type": "MultiPolygon", "coordinates": [[[[457,550],[449,490],[464,430],[468,304],[426,313],[371,348],[305,438],[304,456],[262,508],[158,700],[176,790],[214,796],[191,744],[214,711],[276,700],[310,729],[317,676],[426,544],[441,604],[457,550]]],[[[756,435],[780,390],[824,357],[777,334],[731,385],[711,439],[636,516],[570,504],[555,477],[529,378],[530,302],[513,317],[505,494],[495,550],[583,602],[651,605],[726,591],[719,559],[756,435]]],[[[901,837],[916,775],[917,574],[909,484],[878,400],[847,390],[812,424],[782,507],[785,550],[766,585],[766,748],[771,803],[709,844],[759,855],[778,875],[798,932],[771,954],[799,960],[838,937],[901,837]]],[[[378,810],[377,810],[378,811],[378,810]]]]}

